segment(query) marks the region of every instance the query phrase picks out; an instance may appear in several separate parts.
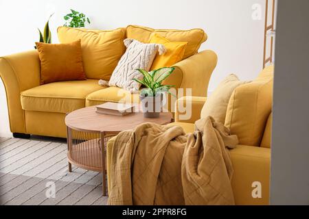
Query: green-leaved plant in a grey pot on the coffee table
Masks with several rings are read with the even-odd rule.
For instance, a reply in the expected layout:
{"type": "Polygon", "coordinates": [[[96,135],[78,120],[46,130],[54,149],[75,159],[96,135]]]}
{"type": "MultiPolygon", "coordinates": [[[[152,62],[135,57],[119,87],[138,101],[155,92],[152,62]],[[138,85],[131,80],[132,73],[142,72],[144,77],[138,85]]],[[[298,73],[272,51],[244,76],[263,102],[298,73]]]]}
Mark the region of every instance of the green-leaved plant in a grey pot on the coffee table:
{"type": "Polygon", "coordinates": [[[170,93],[171,85],[163,85],[162,81],[172,74],[174,68],[159,68],[150,72],[144,69],[137,69],[143,76],[143,79],[133,79],[141,83],[146,88],[142,89],[139,93],[141,100],[142,110],[145,118],[158,118],[161,108],[164,105],[163,94],[170,93]]]}

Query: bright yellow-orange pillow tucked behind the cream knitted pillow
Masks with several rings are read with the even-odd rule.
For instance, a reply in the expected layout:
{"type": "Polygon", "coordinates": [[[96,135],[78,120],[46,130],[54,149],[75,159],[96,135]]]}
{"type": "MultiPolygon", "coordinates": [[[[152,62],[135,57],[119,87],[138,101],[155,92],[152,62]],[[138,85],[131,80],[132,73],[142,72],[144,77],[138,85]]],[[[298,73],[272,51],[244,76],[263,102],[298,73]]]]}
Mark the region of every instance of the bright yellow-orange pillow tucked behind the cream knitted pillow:
{"type": "Polygon", "coordinates": [[[170,40],[159,36],[159,34],[152,35],[150,43],[163,44],[166,49],[166,52],[162,55],[157,54],[150,70],[170,67],[181,61],[185,54],[185,47],[187,46],[187,42],[170,42],[170,40]]]}

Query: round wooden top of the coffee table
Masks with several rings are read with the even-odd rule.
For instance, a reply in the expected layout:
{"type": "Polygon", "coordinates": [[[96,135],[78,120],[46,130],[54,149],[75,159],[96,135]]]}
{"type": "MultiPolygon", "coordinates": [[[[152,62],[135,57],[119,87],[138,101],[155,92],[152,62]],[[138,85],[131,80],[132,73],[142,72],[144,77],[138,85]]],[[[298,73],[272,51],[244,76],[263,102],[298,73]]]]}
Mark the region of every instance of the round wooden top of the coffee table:
{"type": "Polygon", "coordinates": [[[157,123],[166,125],[172,122],[172,113],[162,112],[159,118],[144,118],[142,112],[126,116],[98,114],[95,106],[84,107],[69,113],[65,117],[65,125],[71,129],[86,132],[125,131],[134,129],[141,123],[157,123]]]}

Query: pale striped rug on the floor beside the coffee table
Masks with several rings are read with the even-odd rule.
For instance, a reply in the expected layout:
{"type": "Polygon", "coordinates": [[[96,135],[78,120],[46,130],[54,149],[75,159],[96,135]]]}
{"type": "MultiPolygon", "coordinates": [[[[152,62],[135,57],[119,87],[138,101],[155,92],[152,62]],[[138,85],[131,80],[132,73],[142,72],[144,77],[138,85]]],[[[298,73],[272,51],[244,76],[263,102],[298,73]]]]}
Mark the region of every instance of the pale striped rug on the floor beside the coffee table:
{"type": "Polygon", "coordinates": [[[106,205],[101,174],[72,171],[63,141],[0,138],[0,205],[106,205]]]}

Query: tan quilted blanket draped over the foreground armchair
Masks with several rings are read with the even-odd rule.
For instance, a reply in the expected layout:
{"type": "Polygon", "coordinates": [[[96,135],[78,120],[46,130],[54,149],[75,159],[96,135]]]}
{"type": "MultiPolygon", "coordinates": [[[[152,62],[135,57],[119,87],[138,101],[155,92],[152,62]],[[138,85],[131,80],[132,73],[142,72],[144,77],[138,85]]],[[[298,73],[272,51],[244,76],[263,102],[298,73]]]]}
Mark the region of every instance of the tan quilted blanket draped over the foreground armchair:
{"type": "Polygon", "coordinates": [[[109,205],[233,205],[227,148],[236,136],[213,118],[196,131],[144,123],[117,136],[111,155],[109,205]]]}

